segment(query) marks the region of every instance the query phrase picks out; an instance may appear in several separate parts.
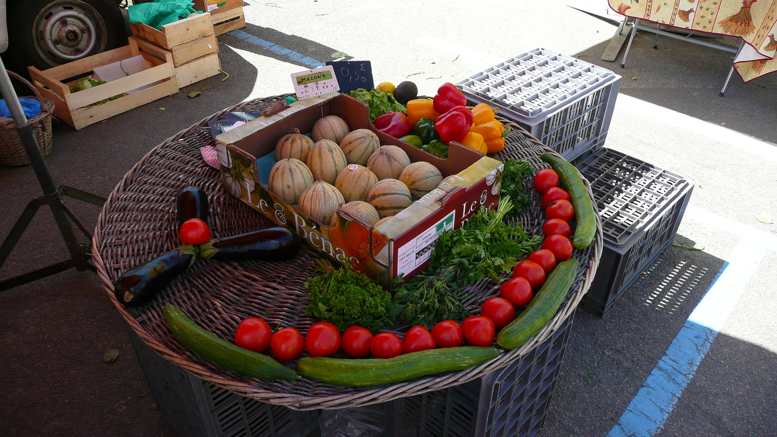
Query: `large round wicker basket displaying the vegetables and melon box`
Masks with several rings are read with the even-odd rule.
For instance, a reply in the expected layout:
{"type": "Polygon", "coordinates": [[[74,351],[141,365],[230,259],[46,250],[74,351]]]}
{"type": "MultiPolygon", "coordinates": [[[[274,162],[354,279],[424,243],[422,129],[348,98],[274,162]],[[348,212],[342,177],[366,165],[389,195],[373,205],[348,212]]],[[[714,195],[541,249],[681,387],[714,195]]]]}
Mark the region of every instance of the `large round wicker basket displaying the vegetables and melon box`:
{"type": "MultiPolygon", "coordinates": [[[[260,112],[283,97],[241,103],[167,139],[148,152],[124,176],[99,215],[93,240],[93,256],[99,276],[127,323],[160,355],[201,379],[272,404],[298,410],[356,407],[440,390],[493,372],[545,341],[571,316],[594,278],[602,249],[601,222],[594,243],[586,250],[575,250],[573,253],[573,257],[580,260],[580,269],[566,302],[548,326],[531,341],[472,369],[404,383],[352,388],[307,378],[294,382],[253,379],[205,361],[172,337],[162,315],[162,309],[168,303],[179,306],[200,326],[228,341],[232,341],[238,323],[248,316],[261,317],[271,326],[283,320],[282,326],[296,327],[305,334],[317,320],[305,316],[308,296],[303,284],[319,258],[318,253],[305,245],[298,257],[281,263],[197,261],[190,271],[172,281],[147,306],[128,309],[121,305],[113,296],[113,283],[120,274],[179,245],[175,198],[181,188],[194,185],[207,192],[211,202],[209,224],[214,237],[272,225],[263,215],[222,188],[218,171],[203,162],[199,149],[213,144],[208,121],[219,120],[229,111],[260,112]]],[[[547,168],[539,155],[552,151],[517,125],[513,124],[512,129],[507,137],[507,148],[494,157],[529,159],[535,167],[547,168]]],[[[527,184],[527,188],[530,185],[527,184]]],[[[531,193],[531,205],[513,220],[521,222],[530,235],[536,235],[541,233],[545,218],[539,206],[539,196],[533,190],[531,193]]],[[[502,281],[484,279],[469,287],[465,306],[477,313],[484,300],[498,295],[502,281]]],[[[392,330],[401,336],[407,329],[404,326],[392,330]]],[[[289,365],[294,366],[295,363],[289,365]]]]}

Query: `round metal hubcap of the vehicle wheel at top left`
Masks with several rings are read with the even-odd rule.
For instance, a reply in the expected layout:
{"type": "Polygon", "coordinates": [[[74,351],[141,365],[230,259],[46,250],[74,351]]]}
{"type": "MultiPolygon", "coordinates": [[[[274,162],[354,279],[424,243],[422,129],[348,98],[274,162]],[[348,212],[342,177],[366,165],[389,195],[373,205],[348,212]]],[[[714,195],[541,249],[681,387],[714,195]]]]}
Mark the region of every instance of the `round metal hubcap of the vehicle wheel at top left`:
{"type": "Polygon", "coordinates": [[[99,13],[84,2],[53,2],[35,20],[35,48],[49,65],[75,61],[104,51],[106,25],[99,13]]]}

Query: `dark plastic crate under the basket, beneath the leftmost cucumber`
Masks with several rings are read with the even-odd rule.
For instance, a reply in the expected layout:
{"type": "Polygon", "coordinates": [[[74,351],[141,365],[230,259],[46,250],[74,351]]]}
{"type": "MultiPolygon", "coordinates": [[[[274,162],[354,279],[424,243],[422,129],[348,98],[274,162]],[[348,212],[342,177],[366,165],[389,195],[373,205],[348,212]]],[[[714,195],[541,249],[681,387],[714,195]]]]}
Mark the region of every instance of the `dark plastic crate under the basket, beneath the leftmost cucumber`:
{"type": "Polygon", "coordinates": [[[315,411],[294,411],[214,386],[127,332],[159,410],[181,437],[307,437],[319,431],[315,411]]]}

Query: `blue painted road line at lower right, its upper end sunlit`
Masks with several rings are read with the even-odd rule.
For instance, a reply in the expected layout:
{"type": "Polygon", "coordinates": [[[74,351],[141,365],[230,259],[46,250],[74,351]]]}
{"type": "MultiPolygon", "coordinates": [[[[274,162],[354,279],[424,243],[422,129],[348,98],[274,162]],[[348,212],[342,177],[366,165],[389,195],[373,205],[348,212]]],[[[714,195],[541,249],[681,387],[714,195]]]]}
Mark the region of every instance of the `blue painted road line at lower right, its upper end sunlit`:
{"type": "Polygon", "coordinates": [[[766,247],[757,241],[744,236],[734,247],[730,261],[723,264],[608,437],[651,437],[664,428],[674,405],[766,256],[766,247]]]}

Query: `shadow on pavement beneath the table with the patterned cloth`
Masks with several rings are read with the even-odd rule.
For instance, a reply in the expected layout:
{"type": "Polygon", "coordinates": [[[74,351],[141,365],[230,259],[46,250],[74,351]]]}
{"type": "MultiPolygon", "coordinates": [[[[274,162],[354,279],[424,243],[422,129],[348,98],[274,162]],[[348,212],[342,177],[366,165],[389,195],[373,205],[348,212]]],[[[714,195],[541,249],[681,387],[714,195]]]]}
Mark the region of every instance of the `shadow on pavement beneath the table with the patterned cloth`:
{"type": "Polygon", "coordinates": [[[615,62],[601,60],[609,41],[575,55],[622,75],[623,94],[777,142],[777,75],[744,83],[734,72],[726,95],[720,97],[718,93],[731,68],[733,54],[667,37],[660,37],[656,50],[654,37],[653,33],[636,34],[625,68],[620,68],[625,44],[615,62]]]}

